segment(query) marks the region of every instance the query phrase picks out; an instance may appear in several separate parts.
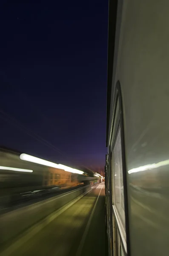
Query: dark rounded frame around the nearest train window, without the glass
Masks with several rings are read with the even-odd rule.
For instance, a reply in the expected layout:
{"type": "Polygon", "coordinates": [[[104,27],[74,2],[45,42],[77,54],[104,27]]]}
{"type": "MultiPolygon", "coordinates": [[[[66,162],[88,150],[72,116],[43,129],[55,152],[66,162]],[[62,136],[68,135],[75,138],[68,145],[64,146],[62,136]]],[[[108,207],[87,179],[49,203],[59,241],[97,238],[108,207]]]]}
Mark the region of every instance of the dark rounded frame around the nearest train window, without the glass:
{"type": "MultiPolygon", "coordinates": [[[[130,255],[129,246],[129,216],[128,216],[128,196],[127,196],[127,173],[126,173],[126,157],[125,157],[125,143],[124,143],[124,126],[123,126],[123,104],[122,104],[122,94],[120,88],[120,81],[117,81],[113,99],[113,113],[111,122],[111,131],[109,137],[109,152],[110,152],[110,162],[111,162],[111,182],[112,182],[112,195],[115,195],[115,184],[113,180],[113,150],[117,140],[118,131],[120,128],[121,137],[121,157],[122,157],[122,173],[123,173],[123,191],[124,191],[124,207],[125,207],[125,230],[123,230],[123,225],[120,223],[119,213],[116,210],[114,199],[112,197],[112,209],[113,217],[115,218],[115,224],[117,225],[117,233],[119,233],[121,240],[121,247],[125,255],[130,255]],[[125,234],[124,234],[125,233],[125,234]]],[[[115,232],[114,232],[115,233],[115,232]]],[[[116,238],[117,239],[117,238],[116,238]]],[[[117,253],[117,250],[116,250],[117,253]]],[[[117,253],[119,255],[120,252],[117,253]]]]}

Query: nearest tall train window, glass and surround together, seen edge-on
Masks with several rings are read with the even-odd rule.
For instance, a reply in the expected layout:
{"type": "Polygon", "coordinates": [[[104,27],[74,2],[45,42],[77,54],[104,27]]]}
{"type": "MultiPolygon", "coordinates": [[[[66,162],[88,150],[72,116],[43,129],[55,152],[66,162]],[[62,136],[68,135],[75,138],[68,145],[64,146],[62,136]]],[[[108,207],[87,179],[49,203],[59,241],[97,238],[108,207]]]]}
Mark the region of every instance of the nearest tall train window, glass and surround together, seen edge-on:
{"type": "MultiPolygon", "coordinates": [[[[126,179],[123,141],[123,113],[120,96],[120,84],[117,84],[112,111],[112,123],[109,137],[109,150],[111,152],[111,181],[112,181],[112,220],[114,230],[114,255],[127,254],[126,239],[126,179]],[[117,232],[115,231],[117,228],[117,232]]],[[[128,226],[127,226],[128,227],[128,226]]],[[[128,231],[127,231],[128,232],[128,231]]]]}

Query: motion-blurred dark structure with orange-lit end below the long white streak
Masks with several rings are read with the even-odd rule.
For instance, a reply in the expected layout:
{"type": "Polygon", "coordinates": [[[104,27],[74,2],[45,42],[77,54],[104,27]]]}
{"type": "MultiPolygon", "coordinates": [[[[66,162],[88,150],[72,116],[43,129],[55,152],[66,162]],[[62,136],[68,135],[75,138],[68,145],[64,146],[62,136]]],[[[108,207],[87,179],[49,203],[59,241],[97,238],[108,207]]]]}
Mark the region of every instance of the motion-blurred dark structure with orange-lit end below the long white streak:
{"type": "Polygon", "coordinates": [[[40,164],[20,160],[20,153],[0,148],[0,195],[13,191],[44,189],[54,186],[71,187],[79,183],[77,174],[63,169],[51,168],[40,164]],[[1,167],[32,170],[32,172],[15,172],[1,167]]]}

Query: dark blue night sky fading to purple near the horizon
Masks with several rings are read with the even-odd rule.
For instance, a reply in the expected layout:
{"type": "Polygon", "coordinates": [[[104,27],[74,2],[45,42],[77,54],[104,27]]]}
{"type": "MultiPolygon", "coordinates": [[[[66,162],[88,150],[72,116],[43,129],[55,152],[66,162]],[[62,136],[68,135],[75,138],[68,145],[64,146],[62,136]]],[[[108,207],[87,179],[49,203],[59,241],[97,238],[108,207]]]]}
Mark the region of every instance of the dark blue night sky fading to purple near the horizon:
{"type": "Polygon", "coordinates": [[[22,2],[0,4],[0,145],[99,171],[108,0],[22,2]]]}

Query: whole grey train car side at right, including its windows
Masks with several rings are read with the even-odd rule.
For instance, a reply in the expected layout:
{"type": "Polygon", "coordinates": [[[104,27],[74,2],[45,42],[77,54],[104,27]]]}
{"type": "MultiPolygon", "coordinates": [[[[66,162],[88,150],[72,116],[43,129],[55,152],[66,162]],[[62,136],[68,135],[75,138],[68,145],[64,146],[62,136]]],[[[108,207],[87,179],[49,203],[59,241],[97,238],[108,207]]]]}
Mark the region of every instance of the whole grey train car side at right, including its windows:
{"type": "Polygon", "coordinates": [[[169,252],[169,1],[109,0],[110,256],[169,252]]]}

